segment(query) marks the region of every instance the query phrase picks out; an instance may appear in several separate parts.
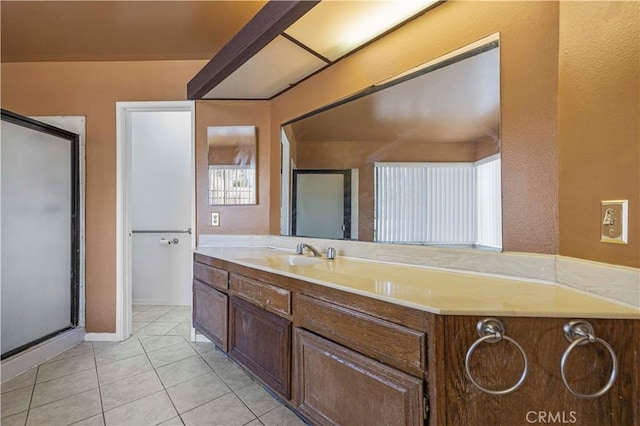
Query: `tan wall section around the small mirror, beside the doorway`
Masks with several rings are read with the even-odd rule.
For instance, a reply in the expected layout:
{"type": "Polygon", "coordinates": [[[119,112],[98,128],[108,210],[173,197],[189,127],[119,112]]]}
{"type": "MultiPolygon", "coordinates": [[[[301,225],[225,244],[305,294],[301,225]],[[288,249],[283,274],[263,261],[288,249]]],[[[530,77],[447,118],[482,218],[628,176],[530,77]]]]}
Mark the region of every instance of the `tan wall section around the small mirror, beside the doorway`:
{"type": "MultiPolygon", "coordinates": [[[[269,233],[270,125],[269,103],[266,101],[196,102],[196,210],[198,235],[269,233]],[[256,126],[258,204],[251,206],[209,206],[207,194],[207,127],[209,126],[256,126]],[[217,227],[211,226],[211,212],[214,211],[220,212],[220,226],[217,227]]],[[[275,154],[278,158],[280,158],[279,152],[278,150],[275,154]]],[[[277,204],[278,193],[276,193],[275,198],[277,204]]]]}

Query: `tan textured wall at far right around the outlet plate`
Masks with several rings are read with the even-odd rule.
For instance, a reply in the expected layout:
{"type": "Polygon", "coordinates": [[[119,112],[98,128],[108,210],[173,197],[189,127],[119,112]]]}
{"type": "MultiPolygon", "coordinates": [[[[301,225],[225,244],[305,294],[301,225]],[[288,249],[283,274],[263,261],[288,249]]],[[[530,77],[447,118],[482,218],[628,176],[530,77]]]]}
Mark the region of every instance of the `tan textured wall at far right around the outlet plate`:
{"type": "Polygon", "coordinates": [[[640,3],[561,2],[560,254],[640,267],[640,3]],[[629,200],[629,244],[600,242],[600,202],[629,200]]]}

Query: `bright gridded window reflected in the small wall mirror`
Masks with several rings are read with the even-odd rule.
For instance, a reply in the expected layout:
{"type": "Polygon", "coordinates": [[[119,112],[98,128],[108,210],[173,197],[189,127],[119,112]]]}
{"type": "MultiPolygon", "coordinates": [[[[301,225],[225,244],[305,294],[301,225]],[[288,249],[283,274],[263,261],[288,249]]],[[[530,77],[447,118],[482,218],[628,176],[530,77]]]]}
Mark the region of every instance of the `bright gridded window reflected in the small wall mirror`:
{"type": "Polygon", "coordinates": [[[255,182],[251,166],[209,166],[209,204],[255,204],[255,182]]]}

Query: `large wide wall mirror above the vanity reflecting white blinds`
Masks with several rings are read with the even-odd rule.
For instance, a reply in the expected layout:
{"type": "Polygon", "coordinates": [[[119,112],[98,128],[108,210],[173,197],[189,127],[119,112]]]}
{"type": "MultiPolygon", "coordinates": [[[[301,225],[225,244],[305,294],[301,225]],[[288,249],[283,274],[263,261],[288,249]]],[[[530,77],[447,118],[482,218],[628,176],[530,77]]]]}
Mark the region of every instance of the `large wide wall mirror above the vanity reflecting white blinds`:
{"type": "Polygon", "coordinates": [[[282,126],[281,233],[502,248],[492,35],[282,126]]]}

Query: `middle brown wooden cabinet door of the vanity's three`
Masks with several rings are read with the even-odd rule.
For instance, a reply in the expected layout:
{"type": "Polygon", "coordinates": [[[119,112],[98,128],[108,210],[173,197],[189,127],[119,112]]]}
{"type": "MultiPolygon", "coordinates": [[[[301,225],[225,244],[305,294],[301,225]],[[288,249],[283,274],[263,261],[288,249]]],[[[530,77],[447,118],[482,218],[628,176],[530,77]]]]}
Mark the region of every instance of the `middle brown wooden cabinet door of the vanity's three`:
{"type": "Polygon", "coordinates": [[[229,355],[271,390],[291,394],[291,322],[231,297],[229,355]]]}

